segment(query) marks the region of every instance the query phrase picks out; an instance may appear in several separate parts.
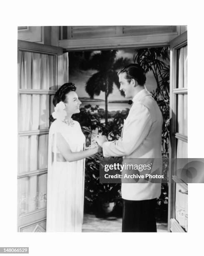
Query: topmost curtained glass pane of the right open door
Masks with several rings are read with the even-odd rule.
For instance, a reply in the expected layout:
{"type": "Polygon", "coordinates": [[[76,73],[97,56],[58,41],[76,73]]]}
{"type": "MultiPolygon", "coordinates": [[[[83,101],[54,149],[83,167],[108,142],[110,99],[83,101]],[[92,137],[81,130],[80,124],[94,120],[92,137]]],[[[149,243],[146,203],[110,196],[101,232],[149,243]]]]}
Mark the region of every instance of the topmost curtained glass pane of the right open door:
{"type": "Polygon", "coordinates": [[[187,88],[187,46],[178,50],[177,88],[187,88]]]}

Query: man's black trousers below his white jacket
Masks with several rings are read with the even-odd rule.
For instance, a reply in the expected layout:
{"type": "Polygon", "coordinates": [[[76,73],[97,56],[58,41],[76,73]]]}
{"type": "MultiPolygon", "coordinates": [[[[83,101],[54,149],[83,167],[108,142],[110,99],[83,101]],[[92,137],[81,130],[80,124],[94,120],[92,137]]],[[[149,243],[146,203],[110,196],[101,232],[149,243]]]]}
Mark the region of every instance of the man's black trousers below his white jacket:
{"type": "Polygon", "coordinates": [[[123,199],[122,232],[157,232],[157,199],[132,201],[123,199]]]}

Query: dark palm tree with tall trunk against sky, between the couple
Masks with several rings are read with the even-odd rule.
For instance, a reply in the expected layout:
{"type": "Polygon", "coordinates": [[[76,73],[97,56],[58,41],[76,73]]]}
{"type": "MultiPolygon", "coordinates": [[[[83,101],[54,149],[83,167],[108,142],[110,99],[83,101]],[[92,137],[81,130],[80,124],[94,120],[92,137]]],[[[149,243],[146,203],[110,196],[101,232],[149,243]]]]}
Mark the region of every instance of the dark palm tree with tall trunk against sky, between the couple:
{"type": "MultiPolygon", "coordinates": [[[[105,124],[108,120],[108,96],[113,91],[113,84],[116,84],[119,89],[120,84],[117,77],[117,71],[129,64],[129,59],[116,59],[116,50],[100,51],[94,55],[90,55],[88,60],[81,63],[81,68],[84,70],[97,70],[86,82],[85,90],[93,99],[94,95],[100,95],[100,92],[105,92],[105,124]]],[[[121,92],[124,96],[124,93],[121,92]]]]}

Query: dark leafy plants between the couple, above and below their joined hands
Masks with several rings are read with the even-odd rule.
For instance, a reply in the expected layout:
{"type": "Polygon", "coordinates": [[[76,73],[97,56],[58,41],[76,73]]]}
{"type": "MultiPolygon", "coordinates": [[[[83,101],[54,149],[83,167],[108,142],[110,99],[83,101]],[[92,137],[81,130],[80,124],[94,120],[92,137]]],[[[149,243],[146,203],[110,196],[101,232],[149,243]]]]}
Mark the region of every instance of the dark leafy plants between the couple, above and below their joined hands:
{"type": "MultiPolygon", "coordinates": [[[[87,146],[91,143],[92,132],[98,129],[99,133],[106,135],[109,140],[116,140],[122,131],[122,125],[124,119],[127,118],[129,109],[108,113],[112,119],[105,126],[100,120],[104,118],[104,111],[99,106],[92,107],[86,105],[84,108],[80,108],[80,113],[73,118],[77,120],[85,133],[87,139],[87,146]]],[[[95,154],[86,158],[85,164],[85,207],[87,204],[95,206],[97,202],[120,202],[121,199],[121,184],[102,184],[100,183],[100,161],[103,158],[102,154],[95,154]]],[[[118,158],[117,161],[122,160],[118,158]]]]}

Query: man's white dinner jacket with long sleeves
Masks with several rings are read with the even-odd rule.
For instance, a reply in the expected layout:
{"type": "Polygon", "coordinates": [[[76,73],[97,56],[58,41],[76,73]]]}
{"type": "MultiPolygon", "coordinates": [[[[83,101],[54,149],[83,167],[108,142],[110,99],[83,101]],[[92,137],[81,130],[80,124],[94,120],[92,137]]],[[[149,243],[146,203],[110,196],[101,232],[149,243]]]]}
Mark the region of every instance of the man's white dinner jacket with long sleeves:
{"type": "MultiPolygon", "coordinates": [[[[124,158],[162,158],[162,113],[147,89],[138,92],[124,120],[122,138],[103,143],[103,155],[124,158]]],[[[122,183],[122,198],[148,200],[159,197],[160,183],[122,183]]]]}

